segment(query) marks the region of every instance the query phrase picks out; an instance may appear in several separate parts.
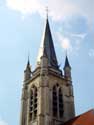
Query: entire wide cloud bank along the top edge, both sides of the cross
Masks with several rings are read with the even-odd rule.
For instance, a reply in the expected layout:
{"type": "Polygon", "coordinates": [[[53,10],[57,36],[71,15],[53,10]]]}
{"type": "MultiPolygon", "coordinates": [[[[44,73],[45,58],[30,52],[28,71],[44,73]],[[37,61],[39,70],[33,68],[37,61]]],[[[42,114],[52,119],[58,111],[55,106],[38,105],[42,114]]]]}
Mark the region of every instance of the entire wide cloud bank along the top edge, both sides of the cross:
{"type": "Polygon", "coordinates": [[[61,21],[69,15],[81,14],[88,18],[89,23],[94,21],[94,0],[6,0],[6,6],[22,14],[38,12],[45,13],[49,7],[49,16],[61,21]]]}

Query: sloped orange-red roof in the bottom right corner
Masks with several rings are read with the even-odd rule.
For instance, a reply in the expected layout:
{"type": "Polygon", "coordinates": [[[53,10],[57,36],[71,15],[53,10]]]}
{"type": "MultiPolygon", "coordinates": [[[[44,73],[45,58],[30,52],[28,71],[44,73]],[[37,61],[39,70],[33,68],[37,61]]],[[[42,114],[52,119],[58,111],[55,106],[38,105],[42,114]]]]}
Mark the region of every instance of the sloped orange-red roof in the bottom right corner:
{"type": "Polygon", "coordinates": [[[69,120],[63,125],[94,125],[94,109],[69,120]]]}

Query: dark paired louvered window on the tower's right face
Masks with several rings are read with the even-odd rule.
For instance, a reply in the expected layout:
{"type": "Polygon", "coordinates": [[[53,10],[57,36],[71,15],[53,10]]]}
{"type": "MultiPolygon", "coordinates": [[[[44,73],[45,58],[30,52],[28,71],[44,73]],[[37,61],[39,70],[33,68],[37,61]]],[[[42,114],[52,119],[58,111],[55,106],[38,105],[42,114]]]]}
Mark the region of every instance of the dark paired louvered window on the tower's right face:
{"type": "Polygon", "coordinates": [[[53,117],[62,118],[63,117],[63,95],[62,95],[62,90],[58,85],[55,85],[53,87],[52,97],[53,97],[52,99],[53,117]]]}

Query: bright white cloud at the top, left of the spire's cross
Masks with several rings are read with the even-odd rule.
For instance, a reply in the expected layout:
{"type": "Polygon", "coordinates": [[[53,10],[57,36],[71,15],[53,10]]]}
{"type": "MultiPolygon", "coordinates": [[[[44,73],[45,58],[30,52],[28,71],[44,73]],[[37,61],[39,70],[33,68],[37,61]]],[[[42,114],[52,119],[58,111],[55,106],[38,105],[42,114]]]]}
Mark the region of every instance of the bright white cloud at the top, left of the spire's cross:
{"type": "Polygon", "coordinates": [[[43,3],[38,0],[6,0],[6,6],[22,14],[42,13],[44,9],[43,3]]]}

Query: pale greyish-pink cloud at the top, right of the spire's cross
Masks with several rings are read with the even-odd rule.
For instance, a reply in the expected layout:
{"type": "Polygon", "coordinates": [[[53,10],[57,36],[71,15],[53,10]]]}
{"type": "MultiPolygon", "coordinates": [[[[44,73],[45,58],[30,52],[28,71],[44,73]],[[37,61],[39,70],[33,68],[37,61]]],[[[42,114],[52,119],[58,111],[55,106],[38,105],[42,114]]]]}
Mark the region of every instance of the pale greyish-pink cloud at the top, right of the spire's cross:
{"type": "Polygon", "coordinates": [[[55,20],[79,14],[86,17],[88,23],[94,21],[94,0],[48,0],[48,6],[55,20]]]}

